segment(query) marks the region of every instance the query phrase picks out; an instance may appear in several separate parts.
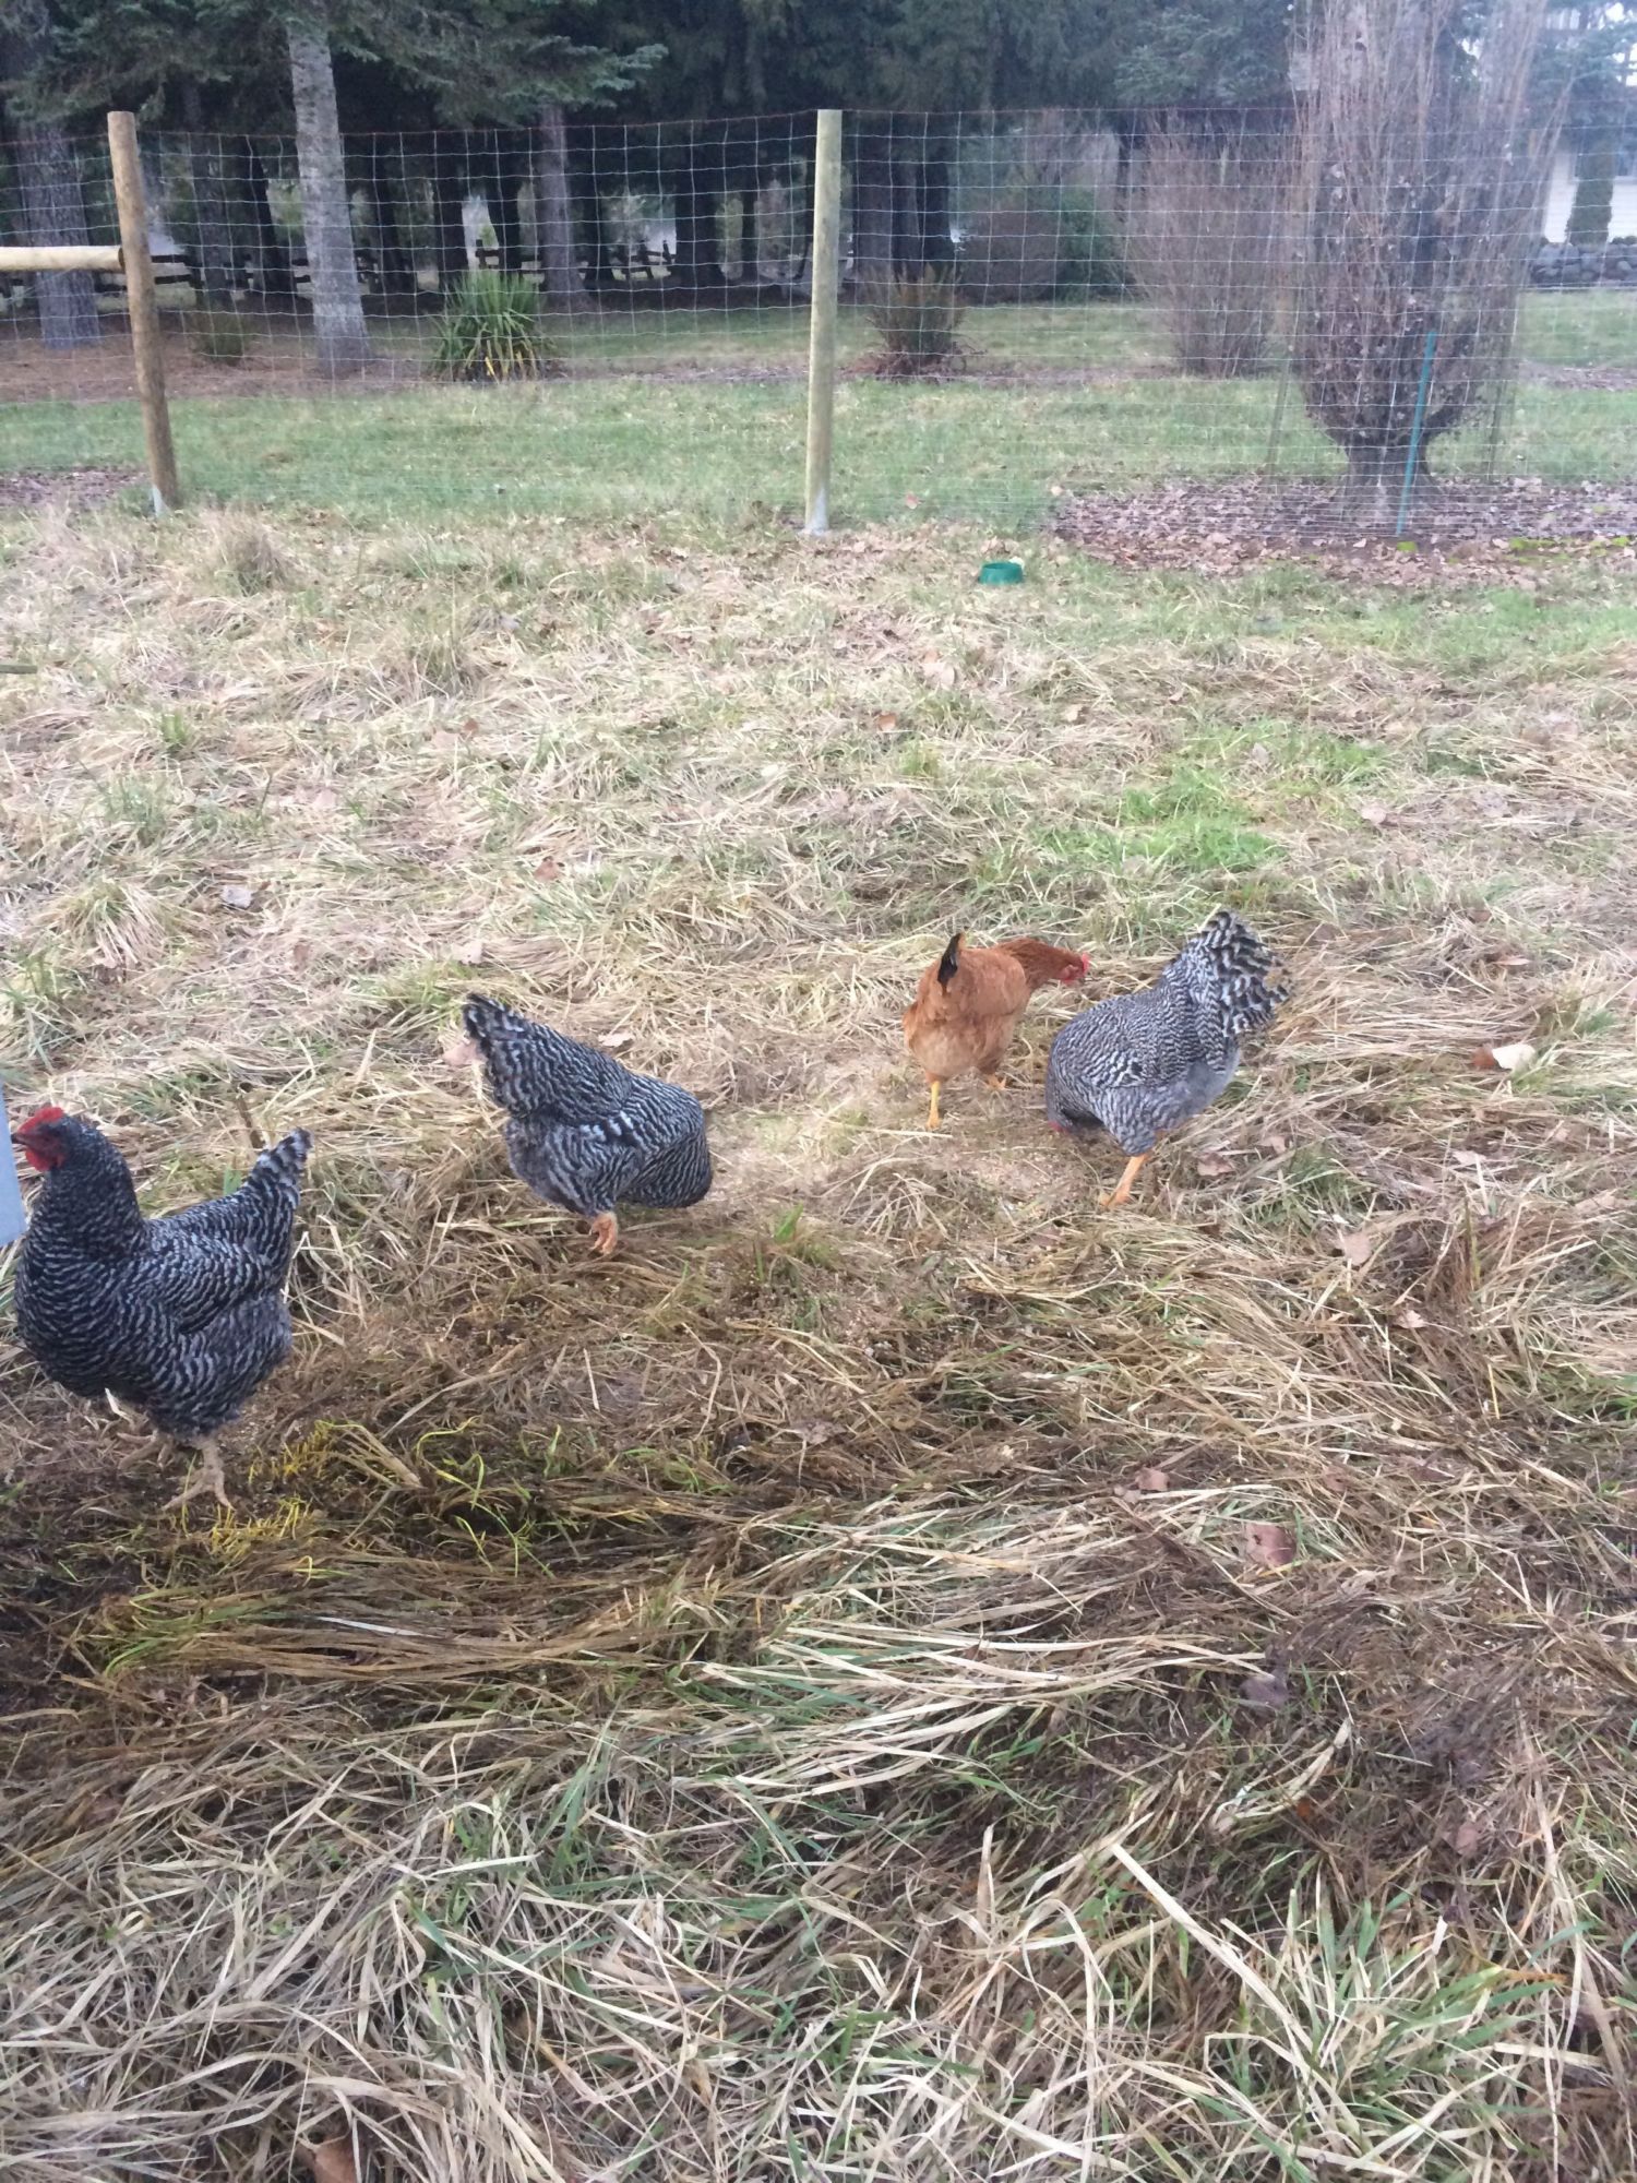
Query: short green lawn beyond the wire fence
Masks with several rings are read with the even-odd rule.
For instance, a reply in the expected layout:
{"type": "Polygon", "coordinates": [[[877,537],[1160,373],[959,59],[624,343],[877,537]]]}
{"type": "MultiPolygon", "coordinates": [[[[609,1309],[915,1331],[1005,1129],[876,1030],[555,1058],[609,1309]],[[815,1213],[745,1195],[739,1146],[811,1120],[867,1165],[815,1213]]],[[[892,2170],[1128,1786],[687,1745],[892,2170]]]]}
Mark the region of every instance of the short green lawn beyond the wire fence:
{"type": "MultiPolygon", "coordinates": [[[[1526,358],[1637,365],[1637,301],[1624,295],[1528,297],[1526,358]],[[1622,341],[1626,347],[1622,349],[1622,341]]],[[[1277,375],[1235,382],[1045,378],[1028,371],[1155,365],[1163,343],[1139,306],[976,310],[976,367],[1015,380],[895,386],[847,378],[838,393],[834,515],[965,520],[1032,528],[1052,487],[1139,485],[1152,476],[1264,469],[1327,474],[1331,445],[1277,375]]],[[[799,314],[618,317],[567,336],[585,375],[535,389],[417,389],[345,397],[260,395],[177,404],[183,480],[207,500],[323,509],[349,520],[463,520],[552,513],[570,522],[725,520],[749,506],[799,513],[803,386],[668,378],[642,365],[744,373],[801,362],[799,314]],[[613,367],[613,375],[609,373],[613,367]]],[[[849,314],[843,351],[869,343],[849,314]]],[[[1552,480],[1628,474],[1637,389],[1524,382],[1499,437],[1504,476],[1552,480]]],[[[37,404],[0,410],[0,469],[140,465],[131,404],[37,404]]],[[[1449,474],[1482,472],[1486,432],[1441,450],[1449,474]]]]}

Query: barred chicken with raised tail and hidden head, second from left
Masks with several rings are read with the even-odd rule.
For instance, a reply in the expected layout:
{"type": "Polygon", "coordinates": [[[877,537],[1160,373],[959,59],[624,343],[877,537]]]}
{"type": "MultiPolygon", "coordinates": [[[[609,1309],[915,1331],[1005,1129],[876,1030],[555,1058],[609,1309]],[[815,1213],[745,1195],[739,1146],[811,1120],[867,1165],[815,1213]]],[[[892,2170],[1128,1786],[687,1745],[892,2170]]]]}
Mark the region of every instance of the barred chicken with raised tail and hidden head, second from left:
{"type": "Polygon", "coordinates": [[[471,993],[463,1022],[489,1098],[506,1109],[513,1174],[592,1222],[592,1249],[620,1242],[616,1207],[696,1205],[712,1185],[705,1109],[681,1085],[635,1076],[561,1030],[471,993]]]}

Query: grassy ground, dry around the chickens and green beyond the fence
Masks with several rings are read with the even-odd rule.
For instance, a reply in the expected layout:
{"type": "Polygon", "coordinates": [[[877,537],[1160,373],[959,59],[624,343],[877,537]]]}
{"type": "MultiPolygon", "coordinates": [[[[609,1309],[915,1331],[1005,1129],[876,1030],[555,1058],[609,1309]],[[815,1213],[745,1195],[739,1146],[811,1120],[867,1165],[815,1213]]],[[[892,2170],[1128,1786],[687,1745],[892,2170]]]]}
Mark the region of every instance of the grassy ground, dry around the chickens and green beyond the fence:
{"type": "Polygon", "coordinates": [[[188,404],[186,513],[0,515],[13,1118],[153,1207],[316,1140],[231,1519],[0,1343],[28,2183],[1637,2166],[1630,561],[1111,570],[1024,520],[1152,386],[843,419],[825,544],[790,384],[188,404]],[[1128,1209],[1070,995],[923,1129],[952,930],[1102,995],[1224,899],[1294,998],[1128,1209]],[[714,1194],[592,1260],[471,987],[714,1194]]]}

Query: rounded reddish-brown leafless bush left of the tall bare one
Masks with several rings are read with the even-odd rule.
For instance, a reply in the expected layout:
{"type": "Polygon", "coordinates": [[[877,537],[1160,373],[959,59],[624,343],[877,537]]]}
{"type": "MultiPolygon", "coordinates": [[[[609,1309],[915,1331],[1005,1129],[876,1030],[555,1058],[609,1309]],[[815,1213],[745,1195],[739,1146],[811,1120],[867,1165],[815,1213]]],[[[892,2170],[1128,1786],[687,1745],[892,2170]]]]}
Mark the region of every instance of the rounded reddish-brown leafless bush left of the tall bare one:
{"type": "Polygon", "coordinates": [[[1133,258],[1179,371],[1262,371],[1288,247],[1288,192],[1266,140],[1207,144],[1166,129],[1144,157],[1133,258]]]}

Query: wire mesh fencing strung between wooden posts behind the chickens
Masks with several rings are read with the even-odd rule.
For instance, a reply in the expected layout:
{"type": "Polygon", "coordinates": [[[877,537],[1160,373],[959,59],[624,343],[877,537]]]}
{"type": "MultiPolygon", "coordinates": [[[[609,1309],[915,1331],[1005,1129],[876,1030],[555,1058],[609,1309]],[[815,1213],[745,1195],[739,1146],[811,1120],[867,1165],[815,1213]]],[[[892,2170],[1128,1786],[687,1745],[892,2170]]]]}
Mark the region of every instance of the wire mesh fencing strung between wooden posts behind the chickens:
{"type": "MultiPolygon", "coordinates": [[[[1569,249],[1572,135],[1515,159],[1506,196],[1471,186],[1482,148],[1423,129],[1425,207],[1399,207],[1388,240],[1403,264],[1377,264],[1379,323],[1353,323],[1351,351],[1340,323],[1364,275],[1342,253],[1318,293],[1299,103],[849,114],[843,142],[843,522],[1021,528],[1087,485],[1338,478],[1355,461],[1340,410],[1351,402],[1358,428],[1364,386],[1382,476],[1403,469],[1417,404],[1445,478],[1630,476],[1617,397],[1637,389],[1637,242],[1622,240],[1637,181],[1630,203],[1615,192],[1613,240],[1569,249]],[[1436,273],[1438,251],[1454,262],[1451,218],[1484,227],[1486,255],[1454,238],[1482,282],[1436,273]]],[[[644,404],[655,430],[679,415],[653,382],[786,389],[799,415],[812,114],[563,124],[548,109],[537,129],[347,138],[351,249],[327,260],[308,251],[292,140],[148,133],[144,177],[183,402],[439,384],[506,402],[504,382],[552,404],[585,382],[642,382],[631,448],[644,404]]],[[[113,236],[100,140],[0,153],[0,242],[113,236]]],[[[0,275],[0,413],[129,397],[120,314],[118,275],[0,275]]],[[[799,496],[784,428],[746,430],[722,458],[744,500],[799,496]]]]}

